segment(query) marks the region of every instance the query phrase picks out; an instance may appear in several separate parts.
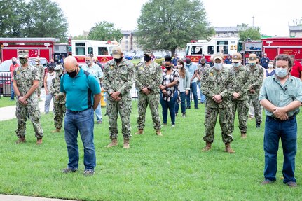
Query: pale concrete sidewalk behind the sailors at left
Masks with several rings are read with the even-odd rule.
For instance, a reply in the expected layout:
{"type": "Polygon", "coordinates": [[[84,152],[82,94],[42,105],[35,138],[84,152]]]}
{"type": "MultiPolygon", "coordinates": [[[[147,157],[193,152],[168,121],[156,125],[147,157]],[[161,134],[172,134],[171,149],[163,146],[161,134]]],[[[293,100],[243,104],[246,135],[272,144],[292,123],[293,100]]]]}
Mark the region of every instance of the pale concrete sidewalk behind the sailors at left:
{"type": "MultiPolygon", "coordinates": [[[[45,90],[41,89],[41,101],[39,102],[39,108],[41,113],[44,112],[44,104],[45,104],[45,90]]],[[[49,111],[53,111],[53,101],[50,102],[49,111]]],[[[10,120],[15,118],[15,106],[6,106],[0,108],[0,120],[10,120]]]]}

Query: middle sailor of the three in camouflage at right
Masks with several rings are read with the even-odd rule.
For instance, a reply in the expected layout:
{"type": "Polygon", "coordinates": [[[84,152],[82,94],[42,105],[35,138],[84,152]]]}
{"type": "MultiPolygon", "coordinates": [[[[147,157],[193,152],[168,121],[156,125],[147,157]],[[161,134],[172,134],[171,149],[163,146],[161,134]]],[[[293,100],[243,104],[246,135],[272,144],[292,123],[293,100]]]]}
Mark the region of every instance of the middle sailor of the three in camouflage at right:
{"type": "Polygon", "coordinates": [[[241,132],[241,138],[247,137],[247,113],[249,113],[249,102],[247,97],[247,91],[249,88],[249,71],[242,66],[242,56],[240,53],[235,53],[232,56],[233,65],[231,69],[234,74],[234,90],[232,95],[233,104],[233,130],[235,113],[238,113],[239,129],[241,132]]]}

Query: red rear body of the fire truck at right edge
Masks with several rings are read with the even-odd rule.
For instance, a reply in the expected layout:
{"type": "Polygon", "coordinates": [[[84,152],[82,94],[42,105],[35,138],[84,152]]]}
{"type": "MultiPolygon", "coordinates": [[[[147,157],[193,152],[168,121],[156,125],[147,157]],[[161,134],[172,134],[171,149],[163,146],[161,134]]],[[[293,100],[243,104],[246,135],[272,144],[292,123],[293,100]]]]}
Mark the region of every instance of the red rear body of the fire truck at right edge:
{"type": "Polygon", "coordinates": [[[266,38],[263,41],[263,53],[273,60],[277,55],[295,55],[295,60],[302,60],[302,38],[266,38]]]}

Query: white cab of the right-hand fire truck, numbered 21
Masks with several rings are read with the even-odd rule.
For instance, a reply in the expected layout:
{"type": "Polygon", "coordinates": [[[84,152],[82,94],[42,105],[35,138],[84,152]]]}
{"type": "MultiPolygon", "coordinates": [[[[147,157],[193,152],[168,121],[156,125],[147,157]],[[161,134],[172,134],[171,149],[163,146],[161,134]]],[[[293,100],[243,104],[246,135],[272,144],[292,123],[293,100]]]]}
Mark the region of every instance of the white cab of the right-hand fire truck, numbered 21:
{"type": "Polygon", "coordinates": [[[186,57],[190,58],[192,62],[198,62],[202,54],[205,55],[207,61],[214,53],[223,53],[224,57],[237,52],[238,38],[237,37],[217,37],[210,41],[198,40],[191,41],[186,44],[186,57]]]}

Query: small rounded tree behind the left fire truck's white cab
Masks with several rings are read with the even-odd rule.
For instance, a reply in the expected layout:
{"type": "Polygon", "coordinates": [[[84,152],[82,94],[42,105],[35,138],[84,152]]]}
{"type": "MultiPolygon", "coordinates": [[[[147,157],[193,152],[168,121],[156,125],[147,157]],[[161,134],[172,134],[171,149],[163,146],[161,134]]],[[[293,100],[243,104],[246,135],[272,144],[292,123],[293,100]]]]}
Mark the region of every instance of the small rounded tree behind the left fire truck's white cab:
{"type": "Polygon", "coordinates": [[[114,29],[114,24],[110,22],[99,22],[92,27],[88,34],[89,40],[99,41],[121,41],[123,34],[121,29],[114,29]]]}

